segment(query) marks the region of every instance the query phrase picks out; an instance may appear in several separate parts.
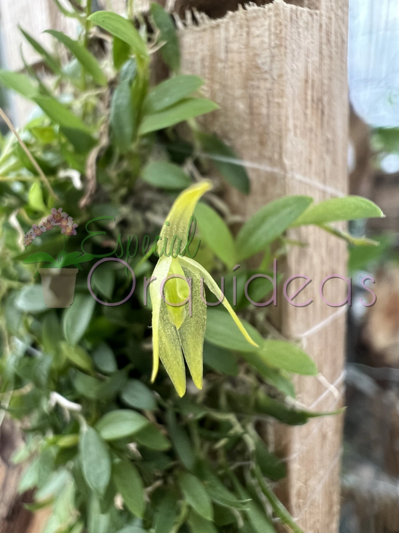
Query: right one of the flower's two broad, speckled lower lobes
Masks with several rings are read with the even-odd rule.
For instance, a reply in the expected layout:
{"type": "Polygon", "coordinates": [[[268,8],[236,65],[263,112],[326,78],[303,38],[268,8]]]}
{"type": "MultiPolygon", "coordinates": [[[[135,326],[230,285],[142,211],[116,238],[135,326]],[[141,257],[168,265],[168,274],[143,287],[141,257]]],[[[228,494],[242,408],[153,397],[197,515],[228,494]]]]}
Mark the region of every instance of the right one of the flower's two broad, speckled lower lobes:
{"type": "Polygon", "coordinates": [[[201,273],[187,264],[183,266],[183,270],[186,278],[192,279],[192,294],[190,301],[186,304],[186,319],[179,328],[178,334],[194,384],[197,389],[202,389],[202,352],[205,337],[206,304],[201,298],[201,273]]]}

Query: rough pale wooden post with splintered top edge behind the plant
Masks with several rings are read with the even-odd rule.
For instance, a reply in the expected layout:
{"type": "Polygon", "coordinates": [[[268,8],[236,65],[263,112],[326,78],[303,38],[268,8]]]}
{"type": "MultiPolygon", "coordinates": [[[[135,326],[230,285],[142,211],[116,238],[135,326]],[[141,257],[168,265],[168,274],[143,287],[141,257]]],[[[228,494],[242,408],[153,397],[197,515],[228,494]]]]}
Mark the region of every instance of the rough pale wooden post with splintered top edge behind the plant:
{"type": "MultiPolygon", "coordinates": [[[[183,70],[202,76],[206,96],[220,104],[204,127],[249,162],[250,197],[228,197],[245,216],[283,195],[320,201],[347,192],[347,0],[312,4],[320,9],[276,0],[220,20],[200,17],[180,32],[183,70]]],[[[329,274],[345,276],[345,244],[315,228],[291,236],[309,246],[290,251],[286,277],[310,276],[313,283],[298,301],[314,302],[298,309],[280,298],[281,330],[300,338],[335,384],[334,390],[315,378],[297,378],[298,400],[315,410],[336,409],[343,393],[345,309],[326,305],[319,284],[329,274]]],[[[342,280],[330,281],[327,299],[343,300],[344,288],[342,280]]],[[[341,417],[275,431],[288,464],[279,492],[306,533],[338,531],[341,435],[341,417]]]]}

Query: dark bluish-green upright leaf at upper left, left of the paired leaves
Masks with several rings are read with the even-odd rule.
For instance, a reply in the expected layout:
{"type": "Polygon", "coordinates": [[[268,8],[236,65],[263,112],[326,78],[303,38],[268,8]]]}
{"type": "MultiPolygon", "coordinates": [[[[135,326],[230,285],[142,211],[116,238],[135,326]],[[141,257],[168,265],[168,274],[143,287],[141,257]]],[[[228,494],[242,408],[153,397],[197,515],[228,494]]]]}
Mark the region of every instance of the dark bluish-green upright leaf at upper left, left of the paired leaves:
{"type": "Polygon", "coordinates": [[[135,129],[130,82],[124,80],[115,89],[111,100],[112,139],[121,154],[129,150],[135,129]]]}

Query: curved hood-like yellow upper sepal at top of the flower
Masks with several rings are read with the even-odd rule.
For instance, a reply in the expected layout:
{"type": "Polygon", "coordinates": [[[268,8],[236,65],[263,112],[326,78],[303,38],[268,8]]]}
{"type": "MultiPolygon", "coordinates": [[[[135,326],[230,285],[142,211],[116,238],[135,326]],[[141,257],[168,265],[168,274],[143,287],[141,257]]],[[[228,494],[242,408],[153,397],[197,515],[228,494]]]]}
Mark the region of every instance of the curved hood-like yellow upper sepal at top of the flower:
{"type": "MultiPolygon", "coordinates": [[[[197,201],[210,189],[212,189],[212,183],[209,180],[203,180],[188,187],[177,197],[161,230],[161,240],[157,244],[157,252],[159,254],[161,254],[165,245],[165,239],[168,239],[167,251],[169,252],[173,244],[173,237],[181,239],[180,251],[184,250],[187,244],[190,217],[193,216],[197,201]],[[169,225],[166,222],[169,222],[169,225]]],[[[176,247],[173,247],[173,251],[175,255],[179,252],[176,247]]]]}

